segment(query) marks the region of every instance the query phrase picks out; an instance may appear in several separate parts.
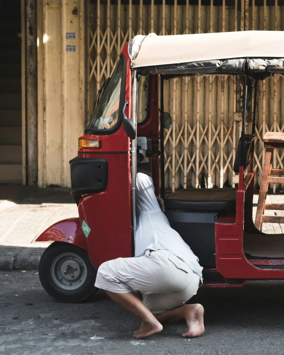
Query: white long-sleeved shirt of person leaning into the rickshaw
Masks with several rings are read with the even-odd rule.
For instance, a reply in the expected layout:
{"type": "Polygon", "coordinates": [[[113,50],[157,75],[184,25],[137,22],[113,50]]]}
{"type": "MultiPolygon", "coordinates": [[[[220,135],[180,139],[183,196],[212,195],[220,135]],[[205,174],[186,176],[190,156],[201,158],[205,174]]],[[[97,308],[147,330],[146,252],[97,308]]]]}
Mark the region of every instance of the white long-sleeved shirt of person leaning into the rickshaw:
{"type": "Polygon", "coordinates": [[[141,256],[147,250],[167,249],[202,278],[203,268],[199,265],[198,257],[178,232],[171,228],[159,207],[152,179],[142,173],[137,174],[136,211],[135,256],[141,256]]]}

